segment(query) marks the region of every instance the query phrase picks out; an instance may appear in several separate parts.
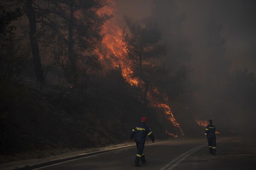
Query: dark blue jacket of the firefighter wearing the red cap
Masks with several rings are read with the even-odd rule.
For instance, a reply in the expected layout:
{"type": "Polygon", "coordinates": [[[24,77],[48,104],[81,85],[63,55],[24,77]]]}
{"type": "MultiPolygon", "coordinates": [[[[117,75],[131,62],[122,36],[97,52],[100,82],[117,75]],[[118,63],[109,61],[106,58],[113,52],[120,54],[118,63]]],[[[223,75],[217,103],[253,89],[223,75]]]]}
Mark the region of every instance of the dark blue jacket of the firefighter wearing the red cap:
{"type": "Polygon", "coordinates": [[[154,136],[149,127],[144,123],[140,122],[139,125],[135,126],[130,135],[130,139],[133,139],[135,142],[145,143],[146,136],[149,136],[152,141],[154,141],[154,136]]]}

